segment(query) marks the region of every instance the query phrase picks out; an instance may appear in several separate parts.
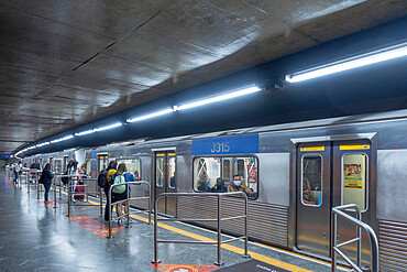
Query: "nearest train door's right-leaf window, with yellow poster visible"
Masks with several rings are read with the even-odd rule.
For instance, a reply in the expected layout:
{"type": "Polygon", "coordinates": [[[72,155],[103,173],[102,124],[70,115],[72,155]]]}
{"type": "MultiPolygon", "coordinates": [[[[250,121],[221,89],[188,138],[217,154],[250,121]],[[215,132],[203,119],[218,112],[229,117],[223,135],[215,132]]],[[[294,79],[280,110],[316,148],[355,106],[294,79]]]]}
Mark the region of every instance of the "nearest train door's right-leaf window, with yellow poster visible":
{"type": "Polygon", "coordinates": [[[367,209],[367,155],[344,154],[342,156],[342,205],[356,204],[367,209]]]}

